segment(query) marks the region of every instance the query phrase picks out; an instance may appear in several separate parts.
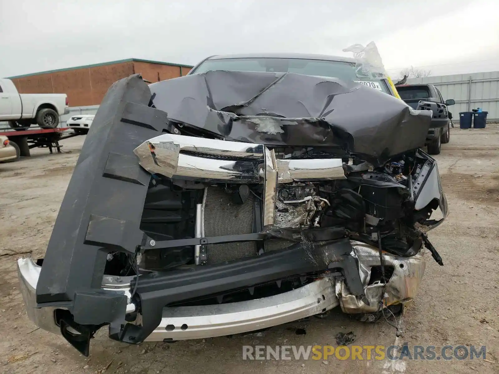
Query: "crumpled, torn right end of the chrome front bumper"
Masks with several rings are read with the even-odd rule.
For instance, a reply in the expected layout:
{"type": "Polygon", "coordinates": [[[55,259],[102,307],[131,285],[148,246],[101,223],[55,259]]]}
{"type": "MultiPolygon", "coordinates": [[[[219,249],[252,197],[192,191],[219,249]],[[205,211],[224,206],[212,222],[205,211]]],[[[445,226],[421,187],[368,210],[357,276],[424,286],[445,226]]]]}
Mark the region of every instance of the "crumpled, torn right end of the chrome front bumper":
{"type": "MultiPolygon", "coordinates": [[[[369,281],[371,268],[380,266],[378,248],[359,241],[352,241],[352,246],[353,254],[358,260],[359,275],[369,305],[353,295],[343,280],[337,279],[336,296],[340,301],[341,310],[349,314],[377,312],[380,310],[383,282],[376,281],[369,285],[369,281]]],[[[404,304],[413,300],[425,272],[426,261],[423,254],[419,252],[413,257],[401,257],[383,252],[383,259],[385,266],[394,268],[393,275],[385,287],[386,305],[404,304]]]]}

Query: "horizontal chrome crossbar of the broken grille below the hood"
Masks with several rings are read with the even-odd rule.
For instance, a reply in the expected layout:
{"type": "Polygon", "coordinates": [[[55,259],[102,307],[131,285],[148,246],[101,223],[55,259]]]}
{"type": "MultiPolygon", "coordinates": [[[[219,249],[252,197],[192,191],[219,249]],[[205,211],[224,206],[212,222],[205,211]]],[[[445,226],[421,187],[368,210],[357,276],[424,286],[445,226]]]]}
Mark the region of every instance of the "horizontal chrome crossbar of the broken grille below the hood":
{"type": "Polygon", "coordinates": [[[167,178],[263,184],[267,171],[272,180],[277,173],[277,183],[346,178],[341,159],[275,160],[273,151],[262,144],[163,134],[145,141],[134,153],[149,173],[167,178]]]}

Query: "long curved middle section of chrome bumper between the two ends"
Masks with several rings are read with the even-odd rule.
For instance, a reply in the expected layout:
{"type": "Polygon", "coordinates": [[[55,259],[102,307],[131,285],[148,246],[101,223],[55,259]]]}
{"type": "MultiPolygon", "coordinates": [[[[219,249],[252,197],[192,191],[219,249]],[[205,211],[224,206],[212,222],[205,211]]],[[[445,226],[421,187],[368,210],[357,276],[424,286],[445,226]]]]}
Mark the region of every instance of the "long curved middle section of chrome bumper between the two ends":
{"type": "Polygon", "coordinates": [[[280,295],[239,303],[164,308],[146,341],[188,340],[240,334],[281,325],[339,305],[334,280],[322,278],[280,295]]]}

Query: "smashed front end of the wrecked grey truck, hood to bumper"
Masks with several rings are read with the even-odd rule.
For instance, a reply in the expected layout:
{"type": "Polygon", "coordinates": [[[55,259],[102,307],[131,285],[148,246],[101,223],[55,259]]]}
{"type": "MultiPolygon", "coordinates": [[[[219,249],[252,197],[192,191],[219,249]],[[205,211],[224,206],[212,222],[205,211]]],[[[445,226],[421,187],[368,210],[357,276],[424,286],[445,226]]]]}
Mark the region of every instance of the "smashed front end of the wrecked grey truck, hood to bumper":
{"type": "MultiPolygon", "coordinates": [[[[352,66],[353,68],[353,66],[352,66]]],[[[447,215],[431,113],[362,83],[206,71],[107,92],[46,255],[17,262],[29,318],[84,355],[340,306],[401,313],[447,215]],[[432,212],[442,214],[432,219],[432,212]]]]}

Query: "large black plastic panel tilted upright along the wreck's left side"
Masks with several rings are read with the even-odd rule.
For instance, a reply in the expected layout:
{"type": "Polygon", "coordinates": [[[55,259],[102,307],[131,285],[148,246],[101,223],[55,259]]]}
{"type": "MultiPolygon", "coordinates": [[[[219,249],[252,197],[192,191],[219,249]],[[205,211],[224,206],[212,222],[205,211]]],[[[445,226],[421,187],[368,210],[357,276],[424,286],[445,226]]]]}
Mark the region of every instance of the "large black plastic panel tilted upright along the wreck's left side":
{"type": "Polygon", "coordinates": [[[140,168],[133,150],[167,128],[166,113],[147,106],[150,98],[149,87],[138,74],[109,88],[60,206],[36,302],[39,307],[65,305],[75,323],[124,322],[126,297],[117,300],[116,294],[100,288],[107,253],[135,253],[143,238],[139,226],[151,176],[140,168]],[[137,117],[137,111],[143,123],[136,118],[127,121],[137,117]],[[90,239],[109,245],[85,241],[87,230],[90,239]]]}

